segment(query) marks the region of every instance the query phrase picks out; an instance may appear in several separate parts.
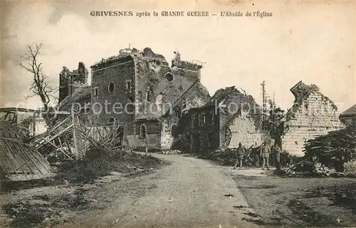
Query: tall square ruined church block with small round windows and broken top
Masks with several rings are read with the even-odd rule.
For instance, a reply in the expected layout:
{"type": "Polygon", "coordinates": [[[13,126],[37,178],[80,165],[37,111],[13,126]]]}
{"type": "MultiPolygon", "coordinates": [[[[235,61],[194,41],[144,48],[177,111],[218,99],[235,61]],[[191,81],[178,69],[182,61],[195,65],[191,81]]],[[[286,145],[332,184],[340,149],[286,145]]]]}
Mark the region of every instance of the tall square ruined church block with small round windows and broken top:
{"type": "Polygon", "coordinates": [[[132,148],[172,148],[179,141],[183,110],[209,100],[200,83],[202,65],[175,54],[169,66],[150,48],[126,48],[91,66],[92,124],[117,122],[124,144],[132,148]]]}

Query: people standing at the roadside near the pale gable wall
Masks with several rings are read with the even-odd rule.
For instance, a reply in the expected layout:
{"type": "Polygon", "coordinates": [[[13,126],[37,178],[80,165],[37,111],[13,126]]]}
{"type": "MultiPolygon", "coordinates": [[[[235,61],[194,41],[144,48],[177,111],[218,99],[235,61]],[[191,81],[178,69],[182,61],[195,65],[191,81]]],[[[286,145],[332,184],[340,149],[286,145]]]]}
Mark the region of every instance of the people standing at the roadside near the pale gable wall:
{"type": "MultiPolygon", "coordinates": [[[[262,169],[267,168],[269,170],[269,158],[273,155],[276,158],[276,169],[281,169],[281,148],[278,145],[271,146],[269,142],[263,142],[260,151],[259,157],[262,161],[262,169]]],[[[240,168],[242,168],[242,161],[244,160],[245,148],[242,146],[242,143],[239,143],[239,147],[236,149],[235,154],[235,165],[234,169],[236,169],[237,165],[240,164],[240,168]]]]}

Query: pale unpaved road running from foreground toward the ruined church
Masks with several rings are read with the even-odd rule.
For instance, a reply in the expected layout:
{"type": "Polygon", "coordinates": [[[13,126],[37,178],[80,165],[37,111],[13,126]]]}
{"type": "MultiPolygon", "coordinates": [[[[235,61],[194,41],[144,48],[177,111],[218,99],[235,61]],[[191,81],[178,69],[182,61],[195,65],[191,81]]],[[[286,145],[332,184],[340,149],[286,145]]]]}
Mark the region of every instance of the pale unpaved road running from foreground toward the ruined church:
{"type": "Polygon", "coordinates": [[[229,168],[183,155],[154,156],[172,163],[140,177],[140,185],[156,188],[138,198],[118,199],[103,213],[70,227],[256,227],[244,220],[253,211],[229,168]]]}

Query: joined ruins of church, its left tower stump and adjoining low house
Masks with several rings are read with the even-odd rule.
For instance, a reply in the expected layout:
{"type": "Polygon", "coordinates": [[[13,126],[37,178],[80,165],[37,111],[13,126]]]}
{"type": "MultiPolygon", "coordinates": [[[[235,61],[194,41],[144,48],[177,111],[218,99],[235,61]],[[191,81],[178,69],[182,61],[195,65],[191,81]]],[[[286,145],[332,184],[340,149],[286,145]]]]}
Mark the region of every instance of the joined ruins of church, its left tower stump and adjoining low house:
{"type": "Polygon", "coordinates": [[[261,112],[246,114],[237,105],[228,114],[221,107],[229,102],[258,107],[254,99],[235,87],[219,89],[210,97],[201,84],[203,63],[181,60],[179,52],[174,55],[169,64],[150,48],[122,49],[90,67],[90,86],[83,63],[78,70],[63,67],[58,107],[68,110],[74,103],[81,104],[81,109],[90,107],[83,110],[89,126],[117,123],[124,132],[123,145],[136,150],[178,148],[206,153],[237,146],[239,141],[261,143],[261,112]],[[216,102],[219,112],[211,113],[216,102]]]}

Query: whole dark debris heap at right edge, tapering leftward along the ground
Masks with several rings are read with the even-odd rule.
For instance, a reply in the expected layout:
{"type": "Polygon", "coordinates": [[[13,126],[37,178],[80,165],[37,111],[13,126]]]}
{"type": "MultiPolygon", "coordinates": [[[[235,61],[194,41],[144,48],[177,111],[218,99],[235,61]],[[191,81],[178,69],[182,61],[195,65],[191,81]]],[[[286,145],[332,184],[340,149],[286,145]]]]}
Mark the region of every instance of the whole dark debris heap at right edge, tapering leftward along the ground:
{"type": "Polygon", "coordinates": [[[310,139],[305,143],[305,156],[290,168],[279,170],[276,174],[288,176],[355,176],[356,124],[310,139]]]}

